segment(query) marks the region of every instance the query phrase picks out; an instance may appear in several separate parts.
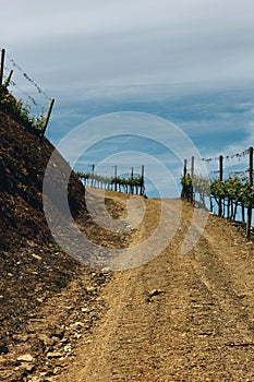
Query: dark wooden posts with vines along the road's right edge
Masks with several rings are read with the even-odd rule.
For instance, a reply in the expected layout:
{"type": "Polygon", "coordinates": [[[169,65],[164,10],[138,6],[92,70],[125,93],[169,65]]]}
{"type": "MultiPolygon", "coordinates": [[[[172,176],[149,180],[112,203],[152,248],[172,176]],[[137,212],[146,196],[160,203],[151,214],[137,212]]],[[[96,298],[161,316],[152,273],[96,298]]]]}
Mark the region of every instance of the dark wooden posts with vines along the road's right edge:
{"type": "MultiPolygon", "coordinates": [[[[252,210],[254,207],[254,204],[253,204],[253,195],[254,195],[254,189],[253,189],[253,147],[250,147],[246,152],[249,153],[249,168],[247,168],[247,177],[245,179],[245,181],[246,181],[245,192],[251,192],[251,196],[244,198],[244,195],[241,195],[240,198],[237,198],[237,200],[234,200],[234,201],[231,200],[231,202],[234,202],[235,207],[234,207],[234,212],[231,213],[230,219],[232,218],[232,216],[233,216],[233,219],[235,218],[237,206],[240,203],[242,206],[242,223],[245,224],[246,237],[250,238],[251,229],[252,229],[252,210]],[[246,208],[246,222],[245,222],[245,217],[244,217],[245,216],[245,213],[244,213],[245,208],[246,208]]],[[[219,169],[218,169],[218,171],[216,171],[216,172],[218,172],[218,177],[217,177],[216,181],[223,183],[225,182],[225,179],[223,179],[223,156],[220,155],[218,157],[218,159],[219,159],[219,169]]],[[[194,156],[192,156],[190,172],[188,172],[188,159],[184,159],[183,176],[182,176],[182,180],[181,180],[181,183],[182,183],[181,198],[188,200],[189,202],[195,202],[196,193],[199,193],[202,204],[204,207],[206,207],[205,196],[204,196],[204,194],[206,194],[206,196],[208,196],[209,201],[210,201],[210,211],[211,212],[213,212],[211,198],[214,198],[218,204],[218,216],[225,217],[225,200],[227,196],[225,198],[225,196],[221,196],[221,194],[216,194],[216,191],[213,190],[213,181],[210,179],[208,180],[209,187],[208,188],[206,187],[205,191],[204,190],[202,191],[201,188],[196,187],[195,182],[196,182],[196,179],[198,179],[198,176],[195,175],[194,163],[195,163],[195,158],[194,158],[194,156]]],[[[242,191],[242,193],[244,193],[244,191],[242,191]]],[[[228,216],[227,216],[228,218],[229,218],[229,208],[230,208],[230,201],[228,200],[228,216]]],[[[231,205],[231,208],[232,208],[232,205],[231,205]]]]}

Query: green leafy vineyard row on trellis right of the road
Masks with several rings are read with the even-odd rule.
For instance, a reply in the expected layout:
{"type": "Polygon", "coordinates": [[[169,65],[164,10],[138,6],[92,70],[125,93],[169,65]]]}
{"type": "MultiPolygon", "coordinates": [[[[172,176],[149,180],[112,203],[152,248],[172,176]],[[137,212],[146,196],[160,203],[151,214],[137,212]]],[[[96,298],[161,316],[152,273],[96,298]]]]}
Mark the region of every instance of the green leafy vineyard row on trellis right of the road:
{"type": "Polygon", "coordinates": [[[186,174],[184,160],[182,199],[201,204],[203,207],[221,217],[237,220],[246,226],[246,236],[251,235],[252,210],[254,208],[253,187],[253,147],[249,148],[247,176],[234,175],[223,179],[223,157],[219,157],[218,177],[206,178],[194,174],[194,157],[192,157],[191,175],[186,174]],[[209,206],[207,206],[209,203],[209,206]],[[239,213],[240,210],[240,213],[239,213]]]}

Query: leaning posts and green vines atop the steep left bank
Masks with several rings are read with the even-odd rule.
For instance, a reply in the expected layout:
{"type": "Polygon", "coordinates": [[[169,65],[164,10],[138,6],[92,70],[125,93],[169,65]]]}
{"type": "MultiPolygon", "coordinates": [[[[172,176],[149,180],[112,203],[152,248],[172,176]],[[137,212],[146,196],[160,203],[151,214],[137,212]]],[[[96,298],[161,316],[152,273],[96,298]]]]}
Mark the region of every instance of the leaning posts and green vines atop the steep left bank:
{"type": "MultiPolygon", "coordinates": [[[[55,99],[50,99],[48,110],[46,116],[43,118],[41,123],[34,123],[34,118],[29,118],[27,114],[21,116],[21,105],[22,102],[16,100],[14,96],[8,91],[8,86],[11,82],[11,77],[13,74],[13,70],[10,71],[5,82],[3,82],[4,74],[4,61],[5,61],[5,49],[1,49],[1,61],[0,61],[0,106],[1,108],[8,112],[13,119],[17,122],[23,123],[27,128],[33,128],[34,131],[38,130],[39,135],[43,138],[47,130],[47,126],[51,116],[51,111],[53,108],[55,99]],[[8,102],[5,102],[8,99],[8,102]],[[11,99],[11,102],[10,102],[11,99]],[[19,105],[19,107],[17,107],[19,105]],[[33,121],[33,122],[32,122],[33,121]]],[[[26,79],[29,79],[26,73],[23,73],[26,79]]],[[[29,79],[31,80],[31,79],[29,79]]],[[[38,86],[36,86],[38,88],[38,86]]]]}

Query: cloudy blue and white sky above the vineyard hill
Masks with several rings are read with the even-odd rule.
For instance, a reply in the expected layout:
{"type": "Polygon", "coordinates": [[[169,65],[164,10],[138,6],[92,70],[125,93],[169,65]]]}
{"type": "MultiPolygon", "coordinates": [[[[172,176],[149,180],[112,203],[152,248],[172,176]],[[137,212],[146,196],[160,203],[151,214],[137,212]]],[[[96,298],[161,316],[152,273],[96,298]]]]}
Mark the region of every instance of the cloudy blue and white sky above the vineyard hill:
{"type": "MultiPolygon", "coordinates": [[[[0,0],[0,7],[5,74],[13,59],[56,98],[47,132],[55,144],[90,118],[122,111],[171,121],[201,157],[254,144],[253,0],[0,0]]],[[[13,81],[37,97],[23,80],[14,68],[13,81]]],[[[126,151],[120,141],[114,148],[126,151]]],[[[136,151],[133,143],[128,147],[136,151]]],[[[162,160],[162,148],[155,155],[150,142],[141,146],[162,160]]],[[[101,160],[102,153],[100,142],[87,160],[101,160]]],[[[118,160],[133,165],[128,156],[118,160]]],[[[238,166],[245,169],[246,160],[238,166]]]]}

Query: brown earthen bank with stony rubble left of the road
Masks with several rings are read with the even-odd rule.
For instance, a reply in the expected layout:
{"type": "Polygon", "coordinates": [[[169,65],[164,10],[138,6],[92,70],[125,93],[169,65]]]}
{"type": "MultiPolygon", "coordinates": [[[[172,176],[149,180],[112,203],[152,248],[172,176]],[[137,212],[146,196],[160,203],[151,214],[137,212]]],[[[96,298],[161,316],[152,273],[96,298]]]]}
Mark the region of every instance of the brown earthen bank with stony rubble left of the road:
{"type": "MultiPolygon", "coordinates": [[[[89,331],[104,309],[100,289],[110,279],[110,273],[90,268],[68,255],[55,242],[45,218],[43,181],[53,151],[47,139],[40,139],[0,110],[1,381],[27,381],[34,370],[45,365],[49,344],[53,346],[57,338],[68,346],[69,339],[62,342],[62,335],[70,320],[85,319],[89,331]],[[33,363],[21,360],[27,353],[33,355],[33,363]]],[[[116,237],[94,224],[87,213],[85,189],[59,153],[55,152],[51,165],[58,169],[50,192],[45,195],[51,213],[64,222],[61,193],[68,184],[69,206],[76,224],[95,242],[116,242],[121,247],[126,235],[116,237]]],[[[118,217],[124,206],[108,198],[107,210],[118,217]]],[[[82,251],[88,253],[87,248],[82,251]]],[[[72,338],[71,332],[69,336],[72,338]]]]}

